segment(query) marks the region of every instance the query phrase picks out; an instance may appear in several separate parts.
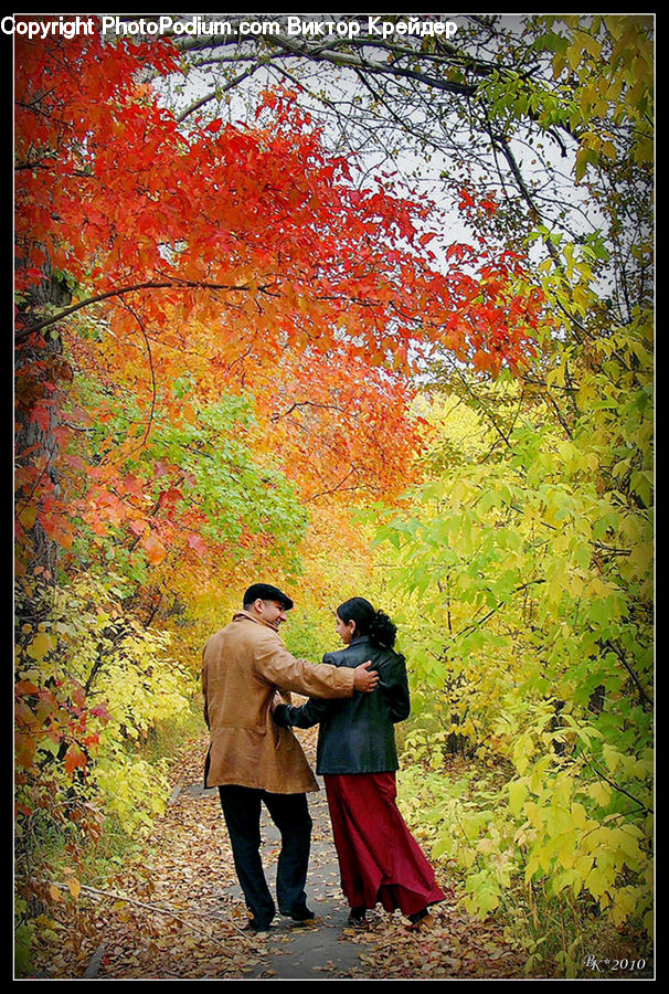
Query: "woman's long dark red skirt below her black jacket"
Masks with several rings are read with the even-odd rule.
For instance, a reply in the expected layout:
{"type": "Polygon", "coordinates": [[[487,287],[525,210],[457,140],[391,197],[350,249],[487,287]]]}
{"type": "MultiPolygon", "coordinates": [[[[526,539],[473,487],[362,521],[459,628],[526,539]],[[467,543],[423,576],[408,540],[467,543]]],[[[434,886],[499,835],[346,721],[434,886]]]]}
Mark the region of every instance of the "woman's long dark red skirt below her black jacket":
{"type": "Polygon", "coordinates": [[[396,804],[395,774],[323,776],[341,889],[351,908],[410,916],[446,899],[396,804]]]}

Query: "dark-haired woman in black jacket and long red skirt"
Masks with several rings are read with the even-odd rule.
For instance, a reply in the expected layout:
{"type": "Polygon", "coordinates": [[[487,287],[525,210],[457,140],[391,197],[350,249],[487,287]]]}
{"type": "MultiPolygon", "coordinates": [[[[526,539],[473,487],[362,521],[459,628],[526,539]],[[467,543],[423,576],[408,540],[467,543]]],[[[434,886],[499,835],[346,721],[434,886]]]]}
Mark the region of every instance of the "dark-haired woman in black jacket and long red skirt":
{"type": "Polygon", "coordinates": [[[352,598],[337,609],[337,633],[346,648],[327,653],[323,663],[354,667],[371,659],[376,690],[312,698],[299,708],[282,704],[274,718],[296,728],[320,722],[316,772],[326,783],[349,923],[362,927],[380,901],[386,911],[400,908],[411,928],[425,928],[428,907],[445,895],[395,802],[394,725],[411,708],[404,656],[393,649],[396,627],[364,598],[352,598]]]}

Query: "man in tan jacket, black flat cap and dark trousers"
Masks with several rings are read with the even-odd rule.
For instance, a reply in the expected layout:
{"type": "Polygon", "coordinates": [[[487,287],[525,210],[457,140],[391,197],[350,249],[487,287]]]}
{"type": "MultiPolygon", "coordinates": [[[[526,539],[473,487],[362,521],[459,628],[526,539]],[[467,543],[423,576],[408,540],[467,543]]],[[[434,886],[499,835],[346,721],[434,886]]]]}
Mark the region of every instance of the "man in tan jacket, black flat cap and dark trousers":
{"type": "Polygon", "coordinates": [[[272,719],[277,688],[308,697],[371,692],[379,675],[370,662],[355,669],[296,659],[278,626],[293,607],[289,596],[254,583],[244,610],[212,635],[202,657],[204,719],[210,729],[205,786],[217,786],[240,885],[252,913],[248,928],[266,931],[276,908],[261,860],[261,804],[282,835],[276,891],[279,911],[307,921],[305,884],[311,839],[307,792],[318,783],[293,731],[272,719]]]}

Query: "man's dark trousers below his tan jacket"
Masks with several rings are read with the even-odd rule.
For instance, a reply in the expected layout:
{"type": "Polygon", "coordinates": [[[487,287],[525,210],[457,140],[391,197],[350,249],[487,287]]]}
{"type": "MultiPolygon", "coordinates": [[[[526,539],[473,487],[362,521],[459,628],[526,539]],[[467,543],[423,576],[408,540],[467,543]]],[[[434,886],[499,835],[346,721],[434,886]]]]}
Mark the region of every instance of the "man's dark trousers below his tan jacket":
{"type": "Polygon", "coordinates": [[[305,907],[305,884],[311,843],[311,816],[306,794],[270,794],[253,787],[219,787],[221,807],[232,845],[237,879],[256,927],[268,926],[275,905],[261,859],[261,805],[264,803],[282,835],[276,870],[279,911],[290,914],[305,907]]]}

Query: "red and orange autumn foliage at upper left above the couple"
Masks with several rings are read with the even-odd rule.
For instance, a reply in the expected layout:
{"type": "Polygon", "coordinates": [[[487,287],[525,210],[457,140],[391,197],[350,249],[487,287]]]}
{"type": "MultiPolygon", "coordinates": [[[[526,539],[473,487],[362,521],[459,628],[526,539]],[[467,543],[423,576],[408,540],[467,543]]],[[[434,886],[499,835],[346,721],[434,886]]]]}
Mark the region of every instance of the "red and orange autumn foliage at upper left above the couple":
{"type": "Polygon", "coordinates": [[[521,262],[453,246],[442,271],[431,204],[383,178],[357,189],[295,95],[266,95],[268,125],[187,127],[137,82],[139,67],[179,71],[167,40],[19,36],[17,62],[18,400],[20,423],[50,440],[19,453],[21,533],[39,520],[71,548],[75,509],[99,535],[125,527],[152,564],[176,529],[202,554],[204,516],[177,511],[179,467],[149,507],[127,462],[158,411],[192,424],[230,392],[255,395],[249,442],[305,500],[392,498],[422,444],[407,414],[420,363],[444,348],[492,372],[522,363],[541,300],[513,293],[521,262]],[[73,288],[56,316],[44,274],[73,288]],[[57,363],[40,355],[53,327],[67,339],[57,363]],[[71,389],[79,374],[95,404],[71,389]],[[184,376],[193,392],[179,395],[184,376]],[[119,394],[142,414],[92,463],[81,436],[119,394]]]}

